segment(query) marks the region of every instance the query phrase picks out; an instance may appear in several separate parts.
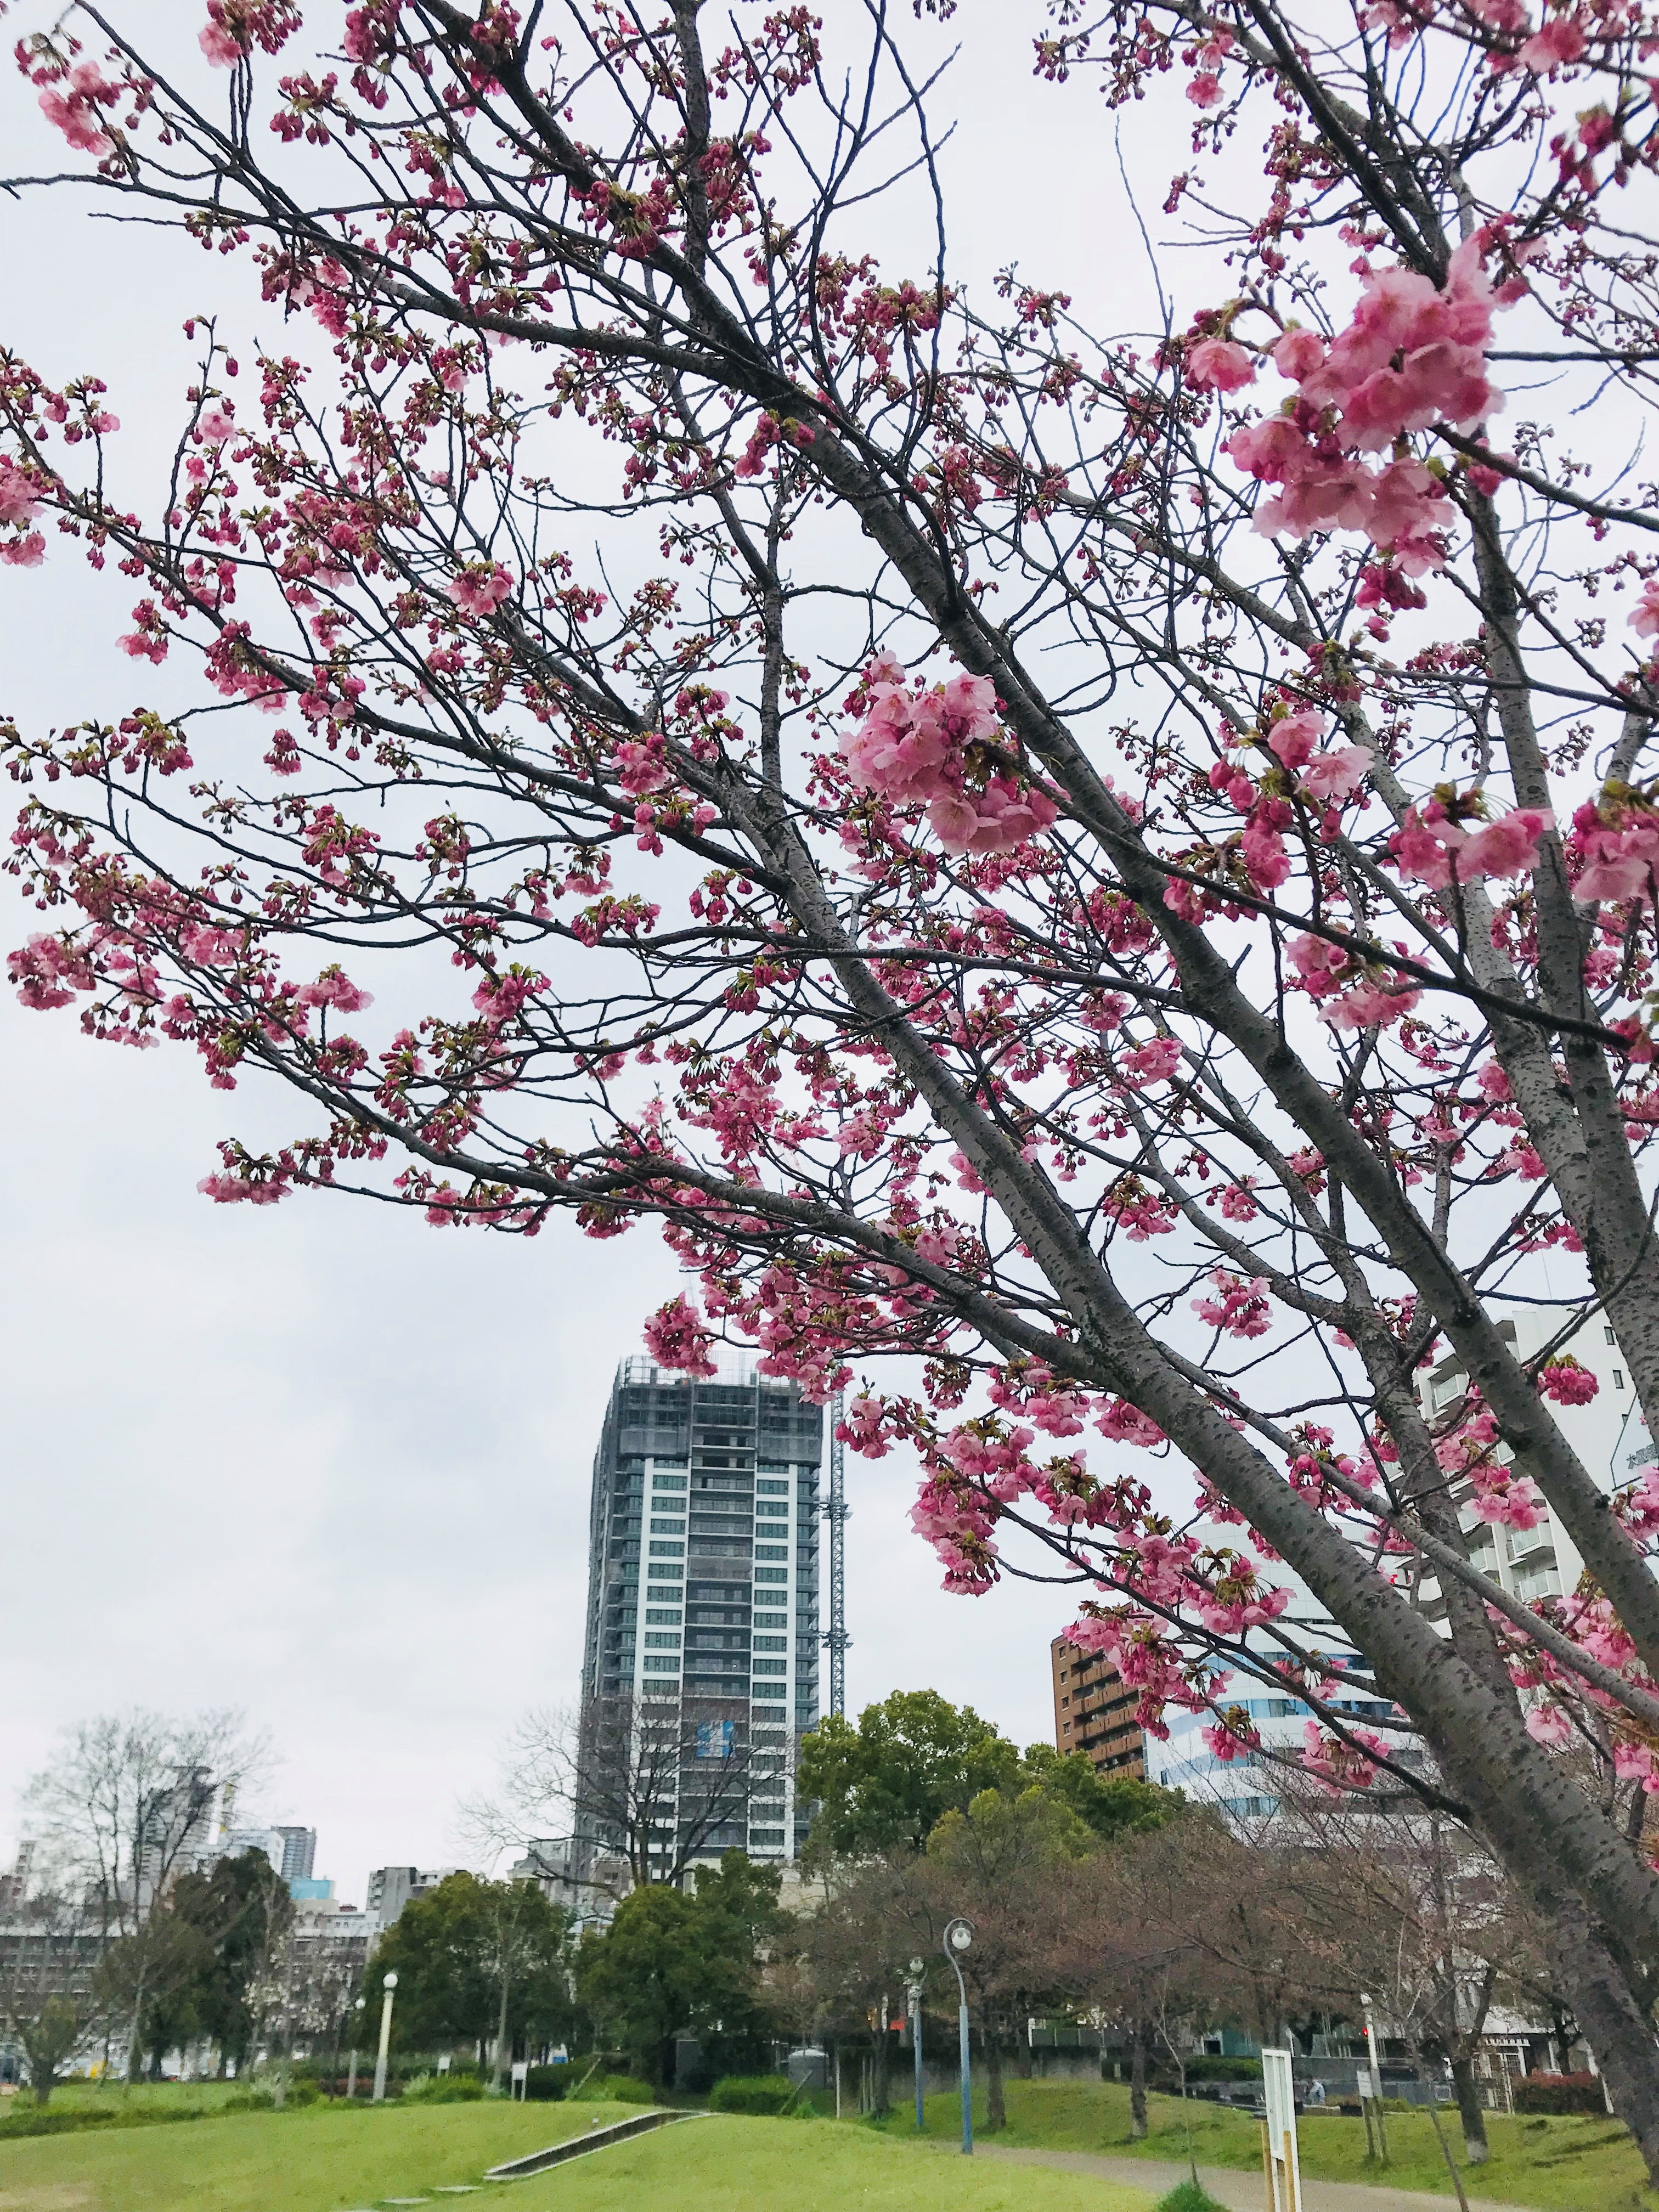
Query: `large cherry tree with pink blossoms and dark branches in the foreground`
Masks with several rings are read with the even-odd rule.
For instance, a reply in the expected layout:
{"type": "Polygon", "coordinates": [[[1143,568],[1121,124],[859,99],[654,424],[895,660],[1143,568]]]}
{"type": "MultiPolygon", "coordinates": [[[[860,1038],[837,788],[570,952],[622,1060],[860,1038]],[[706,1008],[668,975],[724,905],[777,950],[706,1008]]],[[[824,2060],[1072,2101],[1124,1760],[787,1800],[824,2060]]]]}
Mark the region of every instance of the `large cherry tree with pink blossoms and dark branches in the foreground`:
{"type": "Polygon", "coordinates": [[[4,356],[0,557],[113,562],[135,684],[7,734],[13,978],[296,1093],[215,1201],[655,1219],[653,1354],[863,1378],[949,1586],[1073,1582],[1150,1728],[1290,1679],[1557,1931],[1659,2172],[1659,1482],[1548,1402],[1604,1316],[1659,1411],[1659,20],[1033,0],[1102,206],[1113,117],[1190,139],[1124,332],[951,246],[951,15],[20,24],[33,181],[221,310],[153,513],[106,378],[4,356]]]}

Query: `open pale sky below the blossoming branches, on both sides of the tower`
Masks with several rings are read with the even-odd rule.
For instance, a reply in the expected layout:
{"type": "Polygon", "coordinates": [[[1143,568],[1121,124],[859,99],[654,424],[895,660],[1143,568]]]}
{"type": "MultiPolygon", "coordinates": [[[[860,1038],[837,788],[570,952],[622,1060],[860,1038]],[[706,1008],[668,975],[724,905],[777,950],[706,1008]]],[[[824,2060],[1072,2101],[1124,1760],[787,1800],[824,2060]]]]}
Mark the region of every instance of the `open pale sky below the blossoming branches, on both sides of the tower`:
{"type": "MultiPolygon", "coordinates": [[[[259,1088],[226,1102],[184,1057],[86,1044],[11,993],[0,1104],[9,1447],[38,1473],[11,1489],[0,1557],[0,1865],[58,1730],[128,1703],[246,1708],[276,1765],[239,1823],[316,1827],[314,1871],[345,1902],[374,1867],[465,1860],[456,1801],[493,1781],[509,1708],[575,1701],[571,1526],[617,1358],[679,1285],[670,1256],[648,1230],[526,1243],[325,1197],[212,1208],[195,1179],[230,1108],[252,1137],[283,1126],[259,1088]],[[358,1279],[374,1294],[343,1296],[358,1279]],[[66,1513],[73,1637],[40,1566],[66,1513]]],[[[849,1455],[847,1495],[849,1710],[936,1688],[1046,1741],[1042,1652],[1077,1593],[947,1597],[905,1453],[849,1455]]]]}

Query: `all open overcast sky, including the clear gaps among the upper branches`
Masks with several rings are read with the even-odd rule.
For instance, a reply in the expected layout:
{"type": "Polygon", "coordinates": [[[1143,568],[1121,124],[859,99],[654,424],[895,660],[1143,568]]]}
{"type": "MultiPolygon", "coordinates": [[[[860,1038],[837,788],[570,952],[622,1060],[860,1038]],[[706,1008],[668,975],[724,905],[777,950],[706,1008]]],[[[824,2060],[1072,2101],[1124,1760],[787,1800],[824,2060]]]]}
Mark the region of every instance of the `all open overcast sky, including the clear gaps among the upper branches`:
{"type": "MultiPolygon", "coordinates": [[[[195,0],[168,7],[195,27],[195,0]]],[[[940,102],[956,237],[980,281],[1022,259],[1144,325],[1110,126],[1093,93],[1031,82],[1040,22],[1006,0],[958,18],[971,60],[940,102]],[[1037,144],[1040,170],[1015,159],[1037,144]]],[[[1179,139],[1150,113],[1139,131],[1150,159],[1128,166],[1157,210],[1179,139]]],[[[0,139],[18,166],[55,161],[13,80],[0,139]]],[[[883,246],[889,276],[925,274],[883,246]]],[[[192,365],[179,323],[223,263],[91,223],[69,195],[0,210],[0,250],[4,341],[55,380],[104,374],[124,438],[170,431],[192,365]]],[[[128,599],[58,544],[40,571],[2,571],[0,710],[126,710],[148,675],[113,650],[128,599]]],[[[0,920],[7,945],[40,927],[9,883],[0,920]]],[[[241,1705],[268,1728],[263,1809],[319,1829],[316,1871],[345,1898],[374,1865],[462,1856],[456,1798],[489,1781],[520,1708],[577,1686],[597,1425],[677,1283],[655,1232],[588,1243],[553,1223],[518,1243],[321,1197],[215,1208],[195,1188],[215,1139],[292,1133],[292,1108],[208,1091],[186,1053],[93,1046],[11,993],[0,1082],[0,1849],[55,1732],[146,1703],[241,1705]]],[[[1022,1741],[1051,1734],[1048,1637],[1073,1606],[1018,1584],[945,1597],[907,1524],[911,1473],[849,1467],[849,1703],[931,1686],[1022,1741]]]]}

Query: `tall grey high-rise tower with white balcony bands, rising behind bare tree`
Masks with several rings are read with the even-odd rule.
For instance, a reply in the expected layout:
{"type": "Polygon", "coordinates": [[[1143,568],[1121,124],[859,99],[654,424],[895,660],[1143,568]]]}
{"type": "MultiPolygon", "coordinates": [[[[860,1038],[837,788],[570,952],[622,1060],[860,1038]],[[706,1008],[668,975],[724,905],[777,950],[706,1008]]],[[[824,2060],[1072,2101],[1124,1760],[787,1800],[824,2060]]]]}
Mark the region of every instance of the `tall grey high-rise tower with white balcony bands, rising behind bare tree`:
{"type": "Polygon", "coordinates": [[[672,1701],[748,1739],[745,1807],[708,1832],[708,1856],[792,1858],[805,1840],[787,1750],[818,1725],[821,1460],[823,1411],[794,1383],[743,1363],[708,1380],[648,1358],[617,1369],[593,1460],[582,1690],[664,1717],[672,1701]]]}

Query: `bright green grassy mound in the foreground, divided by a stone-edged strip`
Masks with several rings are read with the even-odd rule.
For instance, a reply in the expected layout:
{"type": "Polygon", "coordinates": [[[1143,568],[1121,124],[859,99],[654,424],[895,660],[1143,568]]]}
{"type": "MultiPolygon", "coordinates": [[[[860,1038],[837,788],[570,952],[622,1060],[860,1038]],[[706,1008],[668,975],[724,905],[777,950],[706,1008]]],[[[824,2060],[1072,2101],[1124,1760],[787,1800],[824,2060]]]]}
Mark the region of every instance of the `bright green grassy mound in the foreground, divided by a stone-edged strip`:
{"type": "MultiPolygon", "coordinates": [[[[476,2183],[500,2159],[619,2117],[615,2104],[312,2106],[0,2141],[0,2212],[347,2212],[476,2183]]],[[[1086,2174],[958,2168],[874,2128],[690,2119],[513,2183],[511,2203],[513,2212],[1150,2212],[1152,2199],[1086,2174]]]]}

